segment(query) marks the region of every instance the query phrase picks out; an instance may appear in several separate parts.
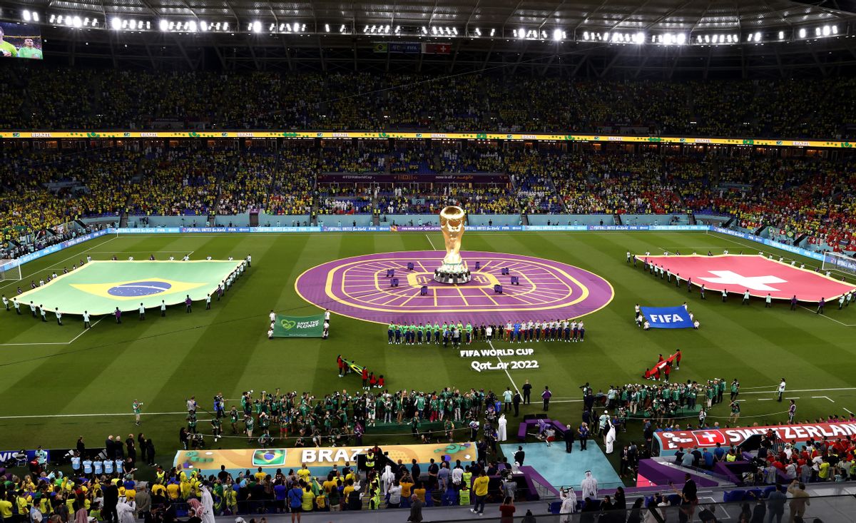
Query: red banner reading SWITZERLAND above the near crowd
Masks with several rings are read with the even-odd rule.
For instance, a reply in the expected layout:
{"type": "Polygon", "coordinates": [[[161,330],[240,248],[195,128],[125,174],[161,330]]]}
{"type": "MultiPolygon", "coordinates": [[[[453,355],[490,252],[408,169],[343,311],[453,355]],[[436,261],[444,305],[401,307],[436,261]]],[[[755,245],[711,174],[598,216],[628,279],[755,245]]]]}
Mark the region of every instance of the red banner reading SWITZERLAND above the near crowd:
{"type": "MultiPolygon", "coordinates": [[[[770,393],[772,395],[772,392],[770,393]]],[[[750,437],[767,431],[776,432],[776,436],[786,442],[807,442],[810,439],[820,440],[828,437],[835,440],[856,436],[856,423],[811,423],[805,425],[768,425],[763,427],[746,427],[736,429],[704,429],[700,431],[663,431],[654,432],[654,438],[660,445],[660,455],[673,455],[678,447],[684,449],[698,445],[699,449],[740,445],[750,437]]]]}

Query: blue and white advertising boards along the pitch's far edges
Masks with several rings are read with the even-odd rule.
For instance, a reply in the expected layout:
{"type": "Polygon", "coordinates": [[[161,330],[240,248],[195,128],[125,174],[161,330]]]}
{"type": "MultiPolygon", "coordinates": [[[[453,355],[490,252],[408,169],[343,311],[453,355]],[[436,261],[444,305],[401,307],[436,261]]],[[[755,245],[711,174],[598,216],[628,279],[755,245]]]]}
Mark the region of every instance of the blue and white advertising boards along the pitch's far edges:
{"type": "MultiPolygon", "coordinates": [[[[48,254],[58,253],[68,247],[80,245],[86,241],[94,240],[104,235],[181,235],[181,234],[229,234],[229,233],[260,233],[260,234],[287,234],[287,233],[343,233],[343,232],[430,232],[439,231],[437,226],[388,226],[388,225],[371,225],[366,227],[319,227],[317,225],[307,227],[159,227],[151,229],[131,229],[131,228],[107,228],[86,235],[80,235],[73,240],[63,241],[51,247],[45,247],[34,253],[25,254],[19,259],[14,259],[9,263],[0,265],[0,273],[7,270],[15,269],[15,267],[26,264],[27,262],[39,259],[48,254]]],[[[769,238],[742,233],[731,229],[722,229],[712,225],[473,225],[467,227],[467,230],[476,232],[514,232],[514,231],[535,231],[535,232],[567,232],[567,231],[696,231],[696,232],[716,232],[722,235],[734,236],[742,240],[752,241],[760,245],[774,247],[788,253],[799,254],[805,258],[816,259],[823,262],[823,253],[815,253],[802,247],[794,247],[772,241],[769,238]]],[[[746,246],[749,247],[749,246],[746,246]]]]}

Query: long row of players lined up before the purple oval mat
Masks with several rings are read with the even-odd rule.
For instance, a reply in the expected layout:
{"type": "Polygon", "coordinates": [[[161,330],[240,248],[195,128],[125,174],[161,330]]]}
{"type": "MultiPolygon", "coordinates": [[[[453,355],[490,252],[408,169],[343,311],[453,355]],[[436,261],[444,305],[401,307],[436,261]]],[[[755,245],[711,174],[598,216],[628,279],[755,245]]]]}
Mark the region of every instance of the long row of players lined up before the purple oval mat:
{"type": "Polygon", "coordinates": [[[508,322],[502,325],[485,325],[473,327],[467,322],[437,324],[392,324],[387,325],[387,344],[389,345],[435,345],[443,347],[459,347],[461,343],[470,345],[473,342],[585,342],[586,325],[582,320],[555,320],[544,322],[508,322]],[[495,337],[496,336],[496,337],[495,337]]]}

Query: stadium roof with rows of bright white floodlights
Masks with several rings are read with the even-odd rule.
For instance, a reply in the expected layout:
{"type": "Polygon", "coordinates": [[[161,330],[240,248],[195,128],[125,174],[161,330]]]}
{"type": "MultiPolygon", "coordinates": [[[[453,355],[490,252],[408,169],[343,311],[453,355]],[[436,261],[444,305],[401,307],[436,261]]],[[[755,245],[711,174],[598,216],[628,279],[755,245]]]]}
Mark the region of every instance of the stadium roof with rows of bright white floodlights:
{"type": "Polygon", "coordinates": [[[853,0],[13,0],[2,16],[41,24],[46,55],[70,62],[670,78],[852,68],[853,9],[853,0]]]}

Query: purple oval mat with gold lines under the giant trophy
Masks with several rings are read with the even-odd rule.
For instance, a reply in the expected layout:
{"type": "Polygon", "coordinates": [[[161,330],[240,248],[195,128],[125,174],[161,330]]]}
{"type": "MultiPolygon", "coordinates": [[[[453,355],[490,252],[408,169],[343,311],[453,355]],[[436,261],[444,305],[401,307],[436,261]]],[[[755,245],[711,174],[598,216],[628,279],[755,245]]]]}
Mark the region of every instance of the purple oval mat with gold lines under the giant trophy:
{"type": "Polygon", "coordinates": [[[473,279],[460,285],[433,281],[442,252],[403,251],[316,265],[297,277],[294,289],[322,309],[379,324],[579,318],[607,306],[614,295],[609,282],[574,265],[508,253],[467,251],[461,256],[473,279]]]}

